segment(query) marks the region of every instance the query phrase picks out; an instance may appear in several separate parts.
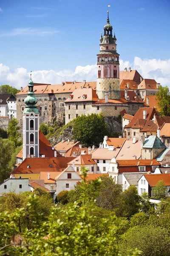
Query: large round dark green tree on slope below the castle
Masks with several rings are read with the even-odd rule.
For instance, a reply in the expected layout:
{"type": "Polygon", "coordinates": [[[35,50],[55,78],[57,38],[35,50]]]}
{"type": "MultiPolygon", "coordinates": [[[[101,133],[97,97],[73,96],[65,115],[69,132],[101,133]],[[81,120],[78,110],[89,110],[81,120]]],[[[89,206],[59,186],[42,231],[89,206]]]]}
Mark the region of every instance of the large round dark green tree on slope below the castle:
{"type": "Polygon", "coordinates": [[[82,144],[99,144],[107,134],[108,125],[105,123],[102,114],[82,115],[74,120],[73,135],[82,144]]]}

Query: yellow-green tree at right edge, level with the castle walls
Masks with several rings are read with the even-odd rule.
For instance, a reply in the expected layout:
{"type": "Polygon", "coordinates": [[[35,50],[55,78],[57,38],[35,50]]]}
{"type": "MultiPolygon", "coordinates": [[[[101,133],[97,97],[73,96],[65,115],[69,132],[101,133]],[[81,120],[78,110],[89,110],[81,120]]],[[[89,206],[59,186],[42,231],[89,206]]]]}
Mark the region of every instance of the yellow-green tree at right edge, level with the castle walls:
{"type": "Polygon", "coordinates": [[[161,116],[170,116],[170,90],[169,87],[159,86],[159,92],[156,93],[156,99],[159,100],[158,107],[161,116]]]}

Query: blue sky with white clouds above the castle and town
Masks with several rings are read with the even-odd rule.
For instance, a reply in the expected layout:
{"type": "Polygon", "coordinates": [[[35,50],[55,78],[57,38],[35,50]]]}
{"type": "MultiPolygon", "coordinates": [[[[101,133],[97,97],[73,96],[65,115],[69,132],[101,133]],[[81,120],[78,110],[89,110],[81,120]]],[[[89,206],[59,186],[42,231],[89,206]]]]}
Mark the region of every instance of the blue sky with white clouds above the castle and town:
{"type": "Polygon", "coordinates": [[[170,0],[0,0],[0,84],[96,81],[108,5],[120,70],[170,87],[170,0]]]}

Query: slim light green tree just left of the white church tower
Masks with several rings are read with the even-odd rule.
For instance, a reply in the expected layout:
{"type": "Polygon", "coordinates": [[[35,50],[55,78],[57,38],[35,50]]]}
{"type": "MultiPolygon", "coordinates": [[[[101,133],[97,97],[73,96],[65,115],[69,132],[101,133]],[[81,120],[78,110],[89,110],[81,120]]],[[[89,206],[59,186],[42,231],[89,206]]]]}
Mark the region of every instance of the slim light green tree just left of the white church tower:
{"type": "Polygon", "coordinates": [[[19,141],[21,134],[19,132],[20,126],[18,125],[18,123],[18,120],[13,117],[8,125],[7,131],[9,140],[13,141],[16,147],[21,144],[21,142],[19,141]]]}

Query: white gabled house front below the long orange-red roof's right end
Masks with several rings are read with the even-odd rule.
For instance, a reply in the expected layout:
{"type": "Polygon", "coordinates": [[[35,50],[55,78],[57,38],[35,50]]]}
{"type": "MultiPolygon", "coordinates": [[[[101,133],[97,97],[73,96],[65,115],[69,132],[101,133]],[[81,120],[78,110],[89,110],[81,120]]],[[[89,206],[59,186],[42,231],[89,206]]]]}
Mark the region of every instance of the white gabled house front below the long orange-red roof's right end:
{"type": "Polygon", "coordinates": [[[82,178],[72,166],[68,166],[63,172],[55,177],[55,181],[57,187],[56,194],[58,194],[62,190],[70,191],[71,189],[74,189],[74,185],[81,182],[82,178]]]}

